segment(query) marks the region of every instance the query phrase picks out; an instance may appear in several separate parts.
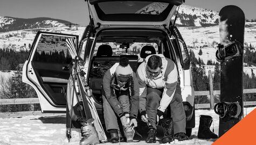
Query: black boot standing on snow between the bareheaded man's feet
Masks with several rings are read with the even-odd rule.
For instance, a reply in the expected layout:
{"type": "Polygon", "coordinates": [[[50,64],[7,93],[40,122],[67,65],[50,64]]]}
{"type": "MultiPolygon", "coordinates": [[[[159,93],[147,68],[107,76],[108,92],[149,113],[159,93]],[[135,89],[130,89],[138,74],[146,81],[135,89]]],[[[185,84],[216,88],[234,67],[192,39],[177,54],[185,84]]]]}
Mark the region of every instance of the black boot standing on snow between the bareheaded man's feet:
{"type": "Polygon", "coordinates": [[[161,119],[160,122],[164,132],[162,143],[172,142],[174,140],[174,122],[172,119],[161,119]]]}

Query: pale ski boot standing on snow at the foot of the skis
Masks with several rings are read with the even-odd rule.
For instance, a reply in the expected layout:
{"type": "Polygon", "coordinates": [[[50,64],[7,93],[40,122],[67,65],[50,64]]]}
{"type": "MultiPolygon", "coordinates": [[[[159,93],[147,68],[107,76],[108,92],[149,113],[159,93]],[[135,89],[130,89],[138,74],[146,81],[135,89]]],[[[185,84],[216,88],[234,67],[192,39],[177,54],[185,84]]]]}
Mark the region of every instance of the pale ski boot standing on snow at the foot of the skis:
{"type": "Polygon", "coordinates": [[[88,119],[86,122],[82,123],[82,139],[80,140],[80,145],[100,143],[98,133],[93,123],[94,119],[88,119]]]}

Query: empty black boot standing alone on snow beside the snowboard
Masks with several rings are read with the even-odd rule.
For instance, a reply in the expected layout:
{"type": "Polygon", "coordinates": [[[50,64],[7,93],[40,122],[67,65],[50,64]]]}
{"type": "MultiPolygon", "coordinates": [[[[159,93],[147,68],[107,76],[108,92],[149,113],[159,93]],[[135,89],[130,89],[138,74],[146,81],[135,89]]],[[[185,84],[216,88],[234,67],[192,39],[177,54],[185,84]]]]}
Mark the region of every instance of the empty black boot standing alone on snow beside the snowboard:
{"type": "Polygon", "coordinates": [[[200,115],[200,122],[199,122],[197,137],[200,139],[217,139],[218,135],[211,132],[210,130],[211,124],[212,124],[211,116],[200,115]]]}

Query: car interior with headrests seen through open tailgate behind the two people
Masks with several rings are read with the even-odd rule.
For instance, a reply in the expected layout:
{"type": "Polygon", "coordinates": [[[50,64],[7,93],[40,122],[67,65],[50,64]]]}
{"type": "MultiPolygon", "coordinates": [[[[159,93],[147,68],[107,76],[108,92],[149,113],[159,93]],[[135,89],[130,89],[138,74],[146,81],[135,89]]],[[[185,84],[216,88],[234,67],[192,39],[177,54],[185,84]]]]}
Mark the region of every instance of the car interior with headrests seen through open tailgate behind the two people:
{"type": "Polygon", "coordinates": [[[99,32],[96,38],[88,84],[98,103],[102,102],[103,75],[119,62],[120,57],[128,57],[129,64],[135,73],[148,55],[164,54],[166,57],[174,58],[170,49],[165,49],[171,45],[168,43],[169,37],[164,31],[109,29],[99,32]]]}

